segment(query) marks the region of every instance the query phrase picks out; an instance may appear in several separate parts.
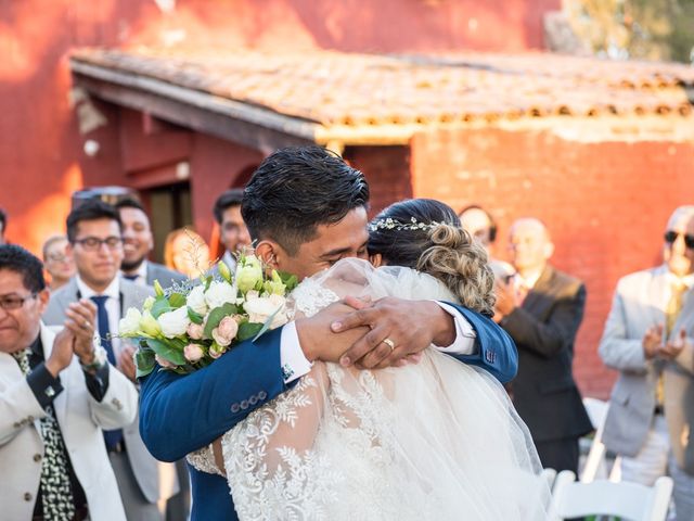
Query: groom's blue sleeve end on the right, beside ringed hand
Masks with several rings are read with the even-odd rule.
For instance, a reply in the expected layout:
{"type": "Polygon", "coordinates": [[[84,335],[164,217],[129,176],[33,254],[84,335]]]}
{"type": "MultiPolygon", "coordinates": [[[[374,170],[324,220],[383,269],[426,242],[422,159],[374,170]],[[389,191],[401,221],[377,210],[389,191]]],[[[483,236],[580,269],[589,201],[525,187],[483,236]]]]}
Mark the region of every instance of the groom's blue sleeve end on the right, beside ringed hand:
{"type": "Polygon", "coordinates": [[[474,355],[453,355],[459,360],[486,369],[501,383],[513,380],[518,372],[518,352],[509,333],[490,318],[466,307],[448,302],[460,312],[475,330],[474,355]]]}

